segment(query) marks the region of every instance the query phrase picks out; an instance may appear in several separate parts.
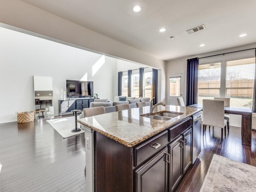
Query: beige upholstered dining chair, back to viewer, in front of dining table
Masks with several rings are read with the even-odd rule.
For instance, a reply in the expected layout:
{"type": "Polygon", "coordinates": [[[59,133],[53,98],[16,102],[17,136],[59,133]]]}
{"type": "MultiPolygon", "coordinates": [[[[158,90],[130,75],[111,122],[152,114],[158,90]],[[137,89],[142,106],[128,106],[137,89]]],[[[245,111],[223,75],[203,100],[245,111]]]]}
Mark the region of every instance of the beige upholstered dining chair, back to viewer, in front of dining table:
{"type": "Polygon", "coordinates": [[[224,100],[203,99],[203,132],[206,126],[221,128],[221,142],[223,141],[223,129],[225,129],[227,120],[224,119],[224,100]]]}

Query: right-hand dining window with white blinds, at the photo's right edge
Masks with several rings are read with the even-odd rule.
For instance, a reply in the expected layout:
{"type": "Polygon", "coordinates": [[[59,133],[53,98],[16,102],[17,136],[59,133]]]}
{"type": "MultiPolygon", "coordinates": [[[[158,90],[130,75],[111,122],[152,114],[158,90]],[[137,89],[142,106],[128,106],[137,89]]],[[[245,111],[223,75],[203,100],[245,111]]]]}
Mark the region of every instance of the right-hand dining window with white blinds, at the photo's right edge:
{"type": "Polygon", "coordinates": [[[252,108],[255,58],[226,62],[226,96],[230,106],[252,108]]]}

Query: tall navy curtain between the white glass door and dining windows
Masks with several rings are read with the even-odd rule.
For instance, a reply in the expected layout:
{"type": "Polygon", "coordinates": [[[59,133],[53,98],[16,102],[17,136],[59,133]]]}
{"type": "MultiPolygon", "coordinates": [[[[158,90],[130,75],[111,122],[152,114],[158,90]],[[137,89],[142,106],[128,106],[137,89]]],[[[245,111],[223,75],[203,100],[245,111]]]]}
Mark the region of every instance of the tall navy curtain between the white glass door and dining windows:
{"type": "Polygon", "coordinates": [[[186,106],[196,104],[198,97],[198,58],[187,60],[186,106]]]}

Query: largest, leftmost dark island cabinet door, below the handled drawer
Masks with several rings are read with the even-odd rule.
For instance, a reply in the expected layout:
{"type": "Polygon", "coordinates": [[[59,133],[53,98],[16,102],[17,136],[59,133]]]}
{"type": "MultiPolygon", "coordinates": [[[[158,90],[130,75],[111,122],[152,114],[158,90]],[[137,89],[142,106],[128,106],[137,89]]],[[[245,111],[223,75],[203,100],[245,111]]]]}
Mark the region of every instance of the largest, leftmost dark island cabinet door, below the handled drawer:
{"type": "Polygon", "coordinates": [[[136,192],[167,192],[168,163],[165,146],[158,154],[135,171],[136,192]]]}

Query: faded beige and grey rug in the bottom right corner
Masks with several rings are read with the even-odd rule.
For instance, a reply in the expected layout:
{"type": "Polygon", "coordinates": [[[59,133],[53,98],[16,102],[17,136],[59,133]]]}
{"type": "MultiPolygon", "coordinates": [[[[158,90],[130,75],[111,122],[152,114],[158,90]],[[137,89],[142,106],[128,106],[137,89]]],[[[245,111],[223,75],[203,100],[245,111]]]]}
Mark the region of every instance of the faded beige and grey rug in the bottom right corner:
{"type": "Polygon", "coordinates": [[[200,192],[255,192],[256,167],[214,154],[200,192]]]}

